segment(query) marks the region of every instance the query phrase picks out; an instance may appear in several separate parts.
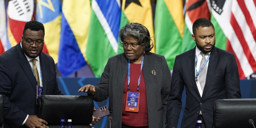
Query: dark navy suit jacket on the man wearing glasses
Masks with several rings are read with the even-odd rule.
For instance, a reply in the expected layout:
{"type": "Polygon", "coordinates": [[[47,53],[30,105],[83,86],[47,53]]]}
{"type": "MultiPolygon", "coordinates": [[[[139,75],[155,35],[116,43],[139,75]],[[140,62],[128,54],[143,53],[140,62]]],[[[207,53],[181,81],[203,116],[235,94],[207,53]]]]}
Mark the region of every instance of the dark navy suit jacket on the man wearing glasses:
{"type": "MultiPolygon", "coordinates": [[[[58,88],[54,60],[43,52],[39,57],[43,94],[62,94],[58,88]]],[[[36,85],[36,79],[20,43],[0,56],[0,94],[4,96],[4,128],[18,128],[27,114],[38,114],[36,85]]]]}

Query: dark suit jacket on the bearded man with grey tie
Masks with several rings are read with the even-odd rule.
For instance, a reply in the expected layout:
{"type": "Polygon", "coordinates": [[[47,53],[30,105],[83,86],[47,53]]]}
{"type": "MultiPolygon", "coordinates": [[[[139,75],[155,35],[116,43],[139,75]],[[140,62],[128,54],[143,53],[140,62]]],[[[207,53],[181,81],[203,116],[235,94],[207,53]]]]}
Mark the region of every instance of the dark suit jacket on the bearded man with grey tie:
{"type": "Polygon", "coordinates": [[[201,98],[195,79],[195,54],[196,48],[193,48],[175,58],[172,88],[167,105],[168,128],[177,127],[184,86],[186,105],[181,128],[195,128],[200,110],[206,128],[212,128],[214,100],[241,98],[238,67],[234,54],[216,47],[212,49],[210,55],[206,84],[201,98]]]}

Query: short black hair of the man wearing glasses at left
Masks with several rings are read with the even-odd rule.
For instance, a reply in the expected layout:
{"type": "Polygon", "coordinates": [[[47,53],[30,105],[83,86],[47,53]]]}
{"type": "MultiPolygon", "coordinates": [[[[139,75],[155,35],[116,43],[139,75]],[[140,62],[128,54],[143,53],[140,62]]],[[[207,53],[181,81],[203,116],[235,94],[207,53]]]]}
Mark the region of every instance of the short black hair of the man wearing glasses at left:
{"type": "Polygon", "coordinates": [[[24,29],[23,29],[23,35],[25,34],[26,30],[30,29],[32,31],[39,31],[39,30],[43,30],[44,32],[44,24],[42,24],[41,22],[38,22],[36,20],[31,20],[29,22],[26,22],[24,29]]]}

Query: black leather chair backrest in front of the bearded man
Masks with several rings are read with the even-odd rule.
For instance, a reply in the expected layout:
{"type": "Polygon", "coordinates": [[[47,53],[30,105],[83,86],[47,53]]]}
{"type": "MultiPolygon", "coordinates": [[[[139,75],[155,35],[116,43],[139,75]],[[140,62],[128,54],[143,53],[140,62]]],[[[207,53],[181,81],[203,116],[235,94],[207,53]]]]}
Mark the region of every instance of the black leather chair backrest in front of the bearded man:
{"type": "Polygon", "coordinates": [[[256,99],[221,99],[214,101],[214,128],[253,128],[256,99]]]}

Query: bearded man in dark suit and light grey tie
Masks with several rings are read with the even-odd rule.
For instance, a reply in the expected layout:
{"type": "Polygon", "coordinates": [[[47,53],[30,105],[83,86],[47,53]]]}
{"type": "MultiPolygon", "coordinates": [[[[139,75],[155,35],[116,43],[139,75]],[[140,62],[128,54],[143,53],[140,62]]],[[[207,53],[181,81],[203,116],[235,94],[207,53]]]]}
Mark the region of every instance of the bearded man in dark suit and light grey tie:
{"type": "Polygon", "coordinates": [[[176,56],[174,62],[167,104],[168,128],[177,127],[184,86],[186,105],[181,128],[195,128],[196,120],[202,120],[203,128],[212,128],[214,100],[241,97],[235,57],[215,47],[213,24],[199,18],[192,29],[196,47],[176,56]]]}

